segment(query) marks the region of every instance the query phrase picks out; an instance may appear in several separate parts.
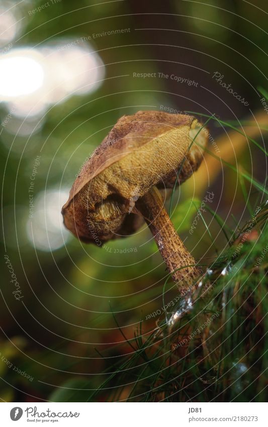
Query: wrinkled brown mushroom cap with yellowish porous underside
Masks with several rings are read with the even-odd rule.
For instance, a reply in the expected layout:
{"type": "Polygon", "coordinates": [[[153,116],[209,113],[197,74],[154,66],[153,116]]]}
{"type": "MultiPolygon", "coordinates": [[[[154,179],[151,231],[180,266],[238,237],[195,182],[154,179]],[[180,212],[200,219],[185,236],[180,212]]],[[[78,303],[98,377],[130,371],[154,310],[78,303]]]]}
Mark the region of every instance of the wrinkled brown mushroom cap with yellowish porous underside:
{"type": "Polygon", "coordinates": [[[178,184],[198,169],[208,140],[201,128],[184,114],[139,111],[121,117],[74,181],[62,208],[65,226],[98,245],[135,232],[143,222],[135,201],[154,185],[172,188],[184,158],[178,184]]]}

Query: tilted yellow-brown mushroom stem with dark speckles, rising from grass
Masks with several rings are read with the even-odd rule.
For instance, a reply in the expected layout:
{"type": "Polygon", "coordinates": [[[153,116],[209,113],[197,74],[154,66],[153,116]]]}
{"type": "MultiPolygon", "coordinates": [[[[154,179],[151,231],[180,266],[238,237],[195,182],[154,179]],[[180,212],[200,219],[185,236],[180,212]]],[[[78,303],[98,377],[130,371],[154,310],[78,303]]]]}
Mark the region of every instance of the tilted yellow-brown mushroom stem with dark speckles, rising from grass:
{"type": "Polygon", "coordinates": [[[188,290],[202,274],[202,269],[196,265],[195,259],[174,229],[157,188],[152,187],[136,202],[136,207],[147,222],[169,273],[188,266],[172,274],[178,289],[188,290]]]}

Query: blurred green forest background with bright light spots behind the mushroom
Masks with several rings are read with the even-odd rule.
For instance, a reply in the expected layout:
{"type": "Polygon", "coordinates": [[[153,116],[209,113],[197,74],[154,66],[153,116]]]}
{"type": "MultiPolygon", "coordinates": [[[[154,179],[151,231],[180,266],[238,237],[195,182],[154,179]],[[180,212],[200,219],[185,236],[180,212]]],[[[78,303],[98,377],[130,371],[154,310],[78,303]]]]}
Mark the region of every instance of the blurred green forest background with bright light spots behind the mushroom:
{"type": "MultiPolygon", "coordinates": [[[[81,164],[122,115],[138,110],[195,111],[234,124],[258,114],[263,119],[258,89],[267,88],[268,10],[263,0],[3,0],[0,12],[0,397],[55,400],[58,387],[95,389],[104,370],[131,352],[111,310],[132,338],[140,319],[161,308],[167,275],[146,226],[106,248],[82,244],[64,229],[61,206],[81,164]],[[221,86],[215,72],[249,105],[221,86]],[[5,254],[23,296],[18,300],[5,254]]],[[[208,126],[216,141],[225,135],[230,162],[262,183],[263,152],[245,142],[236,155],[236,140],[226,136],[230,128],[214,120],[208,126]]],[[[263,131],[254,135],[261,146],[263,131]]],[[[239,223],[250,216],[243,190],[252,206],[256,200],[254,187],[219,166],[209,188],[192,181],[173,199],[173,224],[207,266],[226,239],[208,211],[209,232],[200,221],[189,234],[206,190],[230,227],[236,226],[232,214],[239,223]]],[[[171,284],[166,300],[175,295],[171,284]]],[[[144,331],[154,327],[155,319],[147,321],[144,331]]]]}

